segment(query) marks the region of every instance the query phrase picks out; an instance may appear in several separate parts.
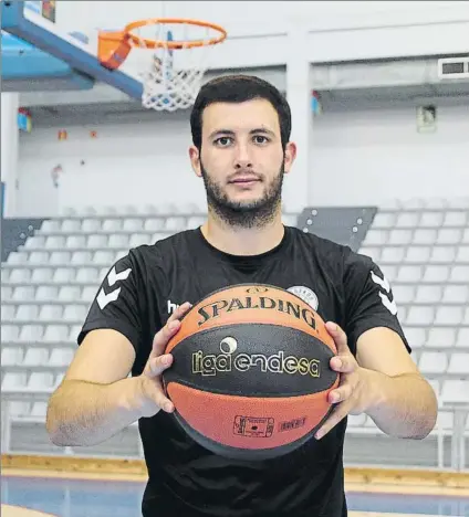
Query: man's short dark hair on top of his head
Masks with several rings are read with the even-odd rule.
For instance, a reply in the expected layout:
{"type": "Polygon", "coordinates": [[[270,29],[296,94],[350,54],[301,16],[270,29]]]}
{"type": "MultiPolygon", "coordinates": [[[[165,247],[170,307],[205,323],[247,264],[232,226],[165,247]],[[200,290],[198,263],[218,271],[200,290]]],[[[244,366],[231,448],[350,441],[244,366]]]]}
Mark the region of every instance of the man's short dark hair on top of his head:
{"type": "Polygon", "coordinates": [[[213,103],[243,103],[254,98],[264,98],[275,108],[279,115],[282,147],[285,149],[292,127],[286,98],[275,86],[253,75],[227,75],[206,83],[194,103],[190,130],[192,143],[199,151],[202,146],[202,114],[207,106],[213,103]]]}

